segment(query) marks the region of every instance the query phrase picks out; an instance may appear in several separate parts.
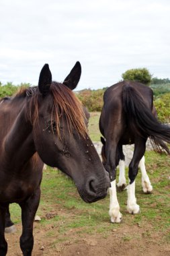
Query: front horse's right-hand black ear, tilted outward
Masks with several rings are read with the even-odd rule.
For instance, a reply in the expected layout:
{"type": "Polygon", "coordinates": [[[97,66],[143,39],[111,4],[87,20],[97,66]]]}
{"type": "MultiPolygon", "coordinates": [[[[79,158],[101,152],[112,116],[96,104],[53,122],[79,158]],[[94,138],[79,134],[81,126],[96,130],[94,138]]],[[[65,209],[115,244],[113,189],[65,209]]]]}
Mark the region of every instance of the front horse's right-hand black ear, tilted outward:
{"type": "Polygon", "coordinates": [[[71,72],[67,77],[65,78],[65,81],[62,84],[65,84],[65,86],[69,87],[71,90],[74,90],[79,83],[79,79],[81,77],[81,64],[79,61],[75,63],[75,66],[73,69],[71,69],[71,72]]]}

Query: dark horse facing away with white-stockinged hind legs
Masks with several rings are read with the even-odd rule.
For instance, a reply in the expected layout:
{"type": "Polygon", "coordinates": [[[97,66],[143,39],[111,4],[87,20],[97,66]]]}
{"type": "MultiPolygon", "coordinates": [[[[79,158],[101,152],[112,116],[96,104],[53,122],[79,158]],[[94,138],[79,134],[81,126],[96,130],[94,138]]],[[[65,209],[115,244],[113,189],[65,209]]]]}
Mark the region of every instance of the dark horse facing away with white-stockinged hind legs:
{"type": "MultiPolygon", "coordinates": [[[[122,145],[134,143],[134,154],[129,164],[127,209],[131,214],[140,210],[136,204],[135,178],[139,162],[144,156],[146,140],[150,137],[157,152],[169,154],[163,142],[170,143],[170,127],[157,121],[153,106],[153,91],[138,82],[124,81],[108,88],[103,96],[104,104],[99,128],[105,140],[101,139],[103,164],[110,174],[110,217],[112,222],[121,222],[122,214],[116,196],[116,166],[124,160],[122,145]]],[[[146,181],[147,182],[147,181],[146,181]]]]}

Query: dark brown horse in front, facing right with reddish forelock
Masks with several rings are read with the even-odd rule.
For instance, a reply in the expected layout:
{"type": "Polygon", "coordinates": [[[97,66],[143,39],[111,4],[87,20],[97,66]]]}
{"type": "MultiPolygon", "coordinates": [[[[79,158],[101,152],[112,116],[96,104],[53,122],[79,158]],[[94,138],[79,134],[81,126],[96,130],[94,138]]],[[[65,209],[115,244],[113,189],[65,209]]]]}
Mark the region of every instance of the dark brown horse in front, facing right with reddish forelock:
{"type": "Polygon", "coordinates": [[[79,62],[62,84],[52,82],[48,65],[38,87],[0,102],[0,255],[6,255],[5,214],[9,203],[22,208],[20,247],[32,255],[33,221],[40,202],[43,162],[75,181],[91,203],[107,195],[110,181],[87,135],[83,108],[71,90],[81,76],[79,62]]]}

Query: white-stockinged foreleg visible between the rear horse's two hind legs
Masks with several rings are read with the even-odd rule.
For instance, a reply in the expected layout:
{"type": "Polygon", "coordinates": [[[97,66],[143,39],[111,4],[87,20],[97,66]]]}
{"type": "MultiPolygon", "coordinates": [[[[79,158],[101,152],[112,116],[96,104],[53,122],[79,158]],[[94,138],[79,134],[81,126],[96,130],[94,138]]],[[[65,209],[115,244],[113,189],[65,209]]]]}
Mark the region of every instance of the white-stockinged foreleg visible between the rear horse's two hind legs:
{"type": "Polygon", "coordinates": [[[120,161],[119,161],[119,181],[117,184],[117,187],[120,191],[124,190],[126,187],[126,177],[125,177],[125,158],[123,153],[123,146],[120,145],[118,147],[119,155],[120,155],[120,161]]]}

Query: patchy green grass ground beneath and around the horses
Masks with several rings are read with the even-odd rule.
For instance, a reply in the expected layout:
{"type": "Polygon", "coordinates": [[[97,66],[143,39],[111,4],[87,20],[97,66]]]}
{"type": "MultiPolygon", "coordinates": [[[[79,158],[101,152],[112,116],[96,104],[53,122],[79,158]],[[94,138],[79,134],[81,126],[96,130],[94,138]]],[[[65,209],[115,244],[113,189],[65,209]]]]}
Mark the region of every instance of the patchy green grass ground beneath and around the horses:
{"type": "MultiPolygon", "coordinates": [[[[98,119],[99,113],[91,114],[89,133],[93,141],[98,141],[100,137],[98,119]]],[[[63,245],[71,243],[70,241],[78,243],[85,236],[99,235],[105,239],[115,230],[116,232],[120,230],[121,241],[124,243],[133,241],[135,236],[138,243],[142,243],[145,239],[146,243],[153,243],[153,247],[154,245],[170,246],[170,159],[169,156],[160,156],[155,152],[146,152],[145,156],[146,170],[153,185],[153,194],[142,193],[139,172],[136,179],[136,198],[140,205],[140,214],[128,214],[126,212],[127,193],[126,191],[118,193],[123,214],[122,224],[110,223],[109,195],[96,203],[84,203],[71,179],[65,177],[59,170],[48,167],[44,171],[42,180],[42,196],[37,212],[42,220],[34,228],[36,236],[44,230],[41,239],[44,241],[50,239],[48,247],[52,250],[62,248],[63,245]],[[134,227],[137,231],[132,236],[130,230],[134,227]],[[128,232],[122,230],[128,230],[128,232]]],[[[12,204],[10,208],[12,219],[19,224],[21,222],[19,207],[12,204]]]]}

